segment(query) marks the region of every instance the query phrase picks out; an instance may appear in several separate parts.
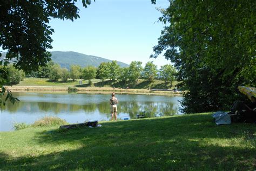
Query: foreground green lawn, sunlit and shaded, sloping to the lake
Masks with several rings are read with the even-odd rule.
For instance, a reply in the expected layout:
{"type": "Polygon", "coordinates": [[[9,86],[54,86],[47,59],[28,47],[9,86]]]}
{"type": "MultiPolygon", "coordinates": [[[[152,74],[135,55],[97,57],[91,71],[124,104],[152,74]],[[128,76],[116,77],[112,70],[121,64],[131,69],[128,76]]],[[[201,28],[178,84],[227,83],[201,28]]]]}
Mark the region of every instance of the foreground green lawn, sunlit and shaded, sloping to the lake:
{"type": "Polygon", "coordinates": [[[0,133],[2,170],[254,170],[255,124],[217,126],[211,114],[31,127],[0,133]]]}

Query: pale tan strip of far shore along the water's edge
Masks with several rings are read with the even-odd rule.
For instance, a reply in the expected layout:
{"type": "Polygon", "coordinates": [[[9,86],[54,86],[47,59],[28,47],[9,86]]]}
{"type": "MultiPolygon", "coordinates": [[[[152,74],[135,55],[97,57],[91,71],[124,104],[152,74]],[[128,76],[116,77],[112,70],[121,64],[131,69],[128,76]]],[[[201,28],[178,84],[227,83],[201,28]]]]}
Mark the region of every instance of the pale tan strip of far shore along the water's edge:
{"type": "MultiPolygon", "coordinates": [[[[68,87],[71,86],[5,86],[6,89],[12,92],[67,92],[68,87]]],[[[73,86],[72,86],[73,87],[73,86]]],[[[117,92],[120,94],[146,94],[146,95],[179,95],[181,92],[173,91],[156,91],[148,89],[124,89],[124,88],[111,88],[111,87],[76,87],[77,92],[75,93],[112,93],[117,92]]]]}

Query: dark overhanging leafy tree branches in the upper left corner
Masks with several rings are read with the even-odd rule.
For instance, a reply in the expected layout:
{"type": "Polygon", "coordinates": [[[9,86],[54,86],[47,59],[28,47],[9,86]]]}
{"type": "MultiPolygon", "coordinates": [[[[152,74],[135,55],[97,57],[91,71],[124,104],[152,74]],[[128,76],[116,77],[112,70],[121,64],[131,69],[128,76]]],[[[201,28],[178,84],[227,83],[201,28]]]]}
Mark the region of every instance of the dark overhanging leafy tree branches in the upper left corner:
{"type": "MultiPolygon", "coordinates": [[[[54,32],[49,26],[50,18],[77,19],[79,9],[75,5],[77,0],[68,1],[1,1],[0,4],[0,47],[8,50],[7,59],[15,58],[15,66],[23,69],[26,73],[36,71],[38,66],[45,66],[50,61],[52,39],[54,32]]],[[[91,1],[82,0],[86,8],[91,1]]],[[[0,53],[1,57],[1,53],[0,53]]],[[[0,60],[0,65],[7,65],[6,61],[0,60]]],[[[0,70],[4,76],[6,70],[0,70]]],[[[2,77],[6,78],[5,76],[2,77]]],[[[10,91],[6,90],[1,81],[0,95],[7,92],[6,100],[17,101],[10,91]]],[[[1,99],[1,98],[0,98],[1,99]]],[[[2,101],[1,101],[2,104],[2,101]]]]}

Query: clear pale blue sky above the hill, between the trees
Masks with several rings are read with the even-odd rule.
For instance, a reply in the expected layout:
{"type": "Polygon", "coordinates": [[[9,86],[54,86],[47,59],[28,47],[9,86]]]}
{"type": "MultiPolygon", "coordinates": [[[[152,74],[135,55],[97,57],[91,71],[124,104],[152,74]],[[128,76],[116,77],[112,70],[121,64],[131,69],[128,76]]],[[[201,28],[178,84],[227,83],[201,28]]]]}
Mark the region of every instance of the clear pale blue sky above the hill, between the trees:
{"type": "Polygon", "coordinates": [[[52,19],[50,26],[53,49],[50,51],[75,51],[118,60],[130,64],[133,60],[169,64],[164,57],[149,59],[152,47],[164,24],[158,22],[161,13],[156,8],[167,8],[168,0],[96,0],[87,9],[78,1],[80,18],[74,20],[52,19]]]}

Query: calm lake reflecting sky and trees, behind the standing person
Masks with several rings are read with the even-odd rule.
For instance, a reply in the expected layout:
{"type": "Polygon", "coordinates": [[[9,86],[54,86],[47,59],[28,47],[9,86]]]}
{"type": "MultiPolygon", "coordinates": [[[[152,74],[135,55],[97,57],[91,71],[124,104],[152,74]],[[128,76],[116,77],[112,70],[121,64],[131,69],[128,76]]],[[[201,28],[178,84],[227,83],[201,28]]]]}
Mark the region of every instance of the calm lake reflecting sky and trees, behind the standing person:
{"type": "MultiPolygon", "coordinates": [[[[16,122],[32,124],[43,117],[58,117],[70,124],[88,120],[110,120],[111,94],[13,93],[20,101],[6,102],[0,114],[0,131],[14,130],[16,122]]],[[[150,117],[181,114],[180,96],[116,94],[118,119],[134,119],[144,112],[150,117]]]]}

